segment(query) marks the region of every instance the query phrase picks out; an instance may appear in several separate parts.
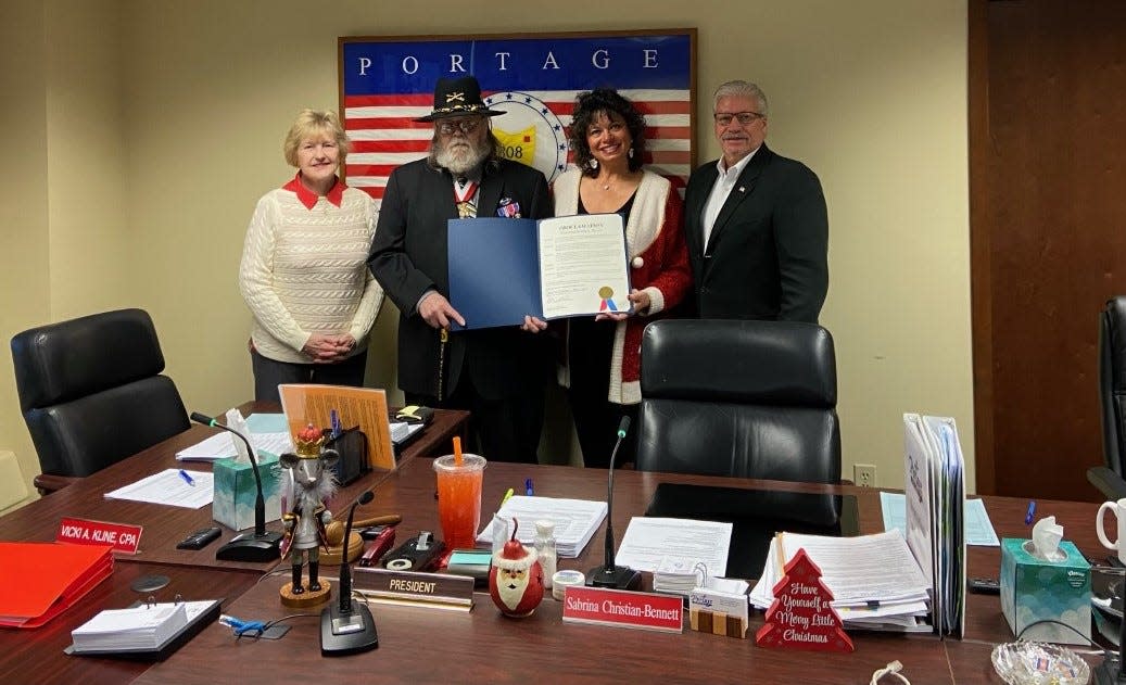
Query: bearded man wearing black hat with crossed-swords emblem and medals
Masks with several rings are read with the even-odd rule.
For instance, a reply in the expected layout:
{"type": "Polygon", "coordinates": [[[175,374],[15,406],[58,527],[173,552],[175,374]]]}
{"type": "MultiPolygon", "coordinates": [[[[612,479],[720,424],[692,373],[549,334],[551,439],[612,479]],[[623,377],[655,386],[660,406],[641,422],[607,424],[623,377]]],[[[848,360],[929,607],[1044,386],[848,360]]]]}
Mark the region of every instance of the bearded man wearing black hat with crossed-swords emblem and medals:
{"type": "Polygon", "coordinates": [[[502,159],[473,77],[438,79],[430,154],[387,180],[368,266],[399,306],[399,386],[412,404],[467,409],[481,454],[536,461],[551,356],[518,327],[450,331],[465,323],[446,295],[446,222],[552,215],[547,179],[502,159]]]}

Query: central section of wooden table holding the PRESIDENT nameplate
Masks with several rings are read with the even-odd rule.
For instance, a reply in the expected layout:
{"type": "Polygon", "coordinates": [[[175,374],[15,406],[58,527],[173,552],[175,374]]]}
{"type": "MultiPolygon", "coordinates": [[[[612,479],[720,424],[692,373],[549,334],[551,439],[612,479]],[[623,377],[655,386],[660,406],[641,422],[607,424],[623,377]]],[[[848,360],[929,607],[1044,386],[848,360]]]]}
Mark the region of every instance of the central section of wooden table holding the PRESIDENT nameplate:
{"type": "MultiPolygon", "coordinates": [[[[569,466],[528,466],[490,463],[485,469],[483,501],[486,510],[509,487],[533,478],[536,495],[600,499],[606,472],[569,466]]],[[[644,511],[658,483],[674,481],[748,488],[776,488],[806,492],[848,492],[859,499],[861,533],[883,530],[878,492],[854,487],[826,487],[776,481],[732,480],[622,471],[616,475],[614,524],[625,531],[632,516],[644,511]]],[[[403,515],[401,540],[418,530],[439,530],[429,460],[402,464],[375,487],[369,507],[403,515]]],[[[986,507],[1001,536],[1025,536],[1027,501],[988,498],[986,507]]],[[[1085,502],[1039,502],[1044,515],[1056,515],[1069,539],[1094,552],[1098,542],[1091,523],[1096,507],[1085,502]]],[[[602,562],[602,540],[578,559],[561,560],[561,568],[583,571],[602,562]]],[[[971,548],[972,575],[995,576],[1000,564],[995,548],[971,548]]],[[[263,581],[225,611],[241,619],[272,620],[288,612],[278,602],[284,579],[263,581]]],[[[242,669],[258,680],[331,677],[370,683],[867,683],[872,673],[899,659],[915,685],[927,683],[1000,683],[989,656],[994,643],[1011,640],[995,596],[972,595],[966,639],[940,641],[926,635],[852,632],[854,653],[811,653],[760,649],[753,640],[736,640],[686,630],[683,634],[563,623],[561,604],[546,598],[524,620],[502,617],[489,597],[477,595],[471,613],[373,604],[379,632],[376,651],[324,659],[320,656],[319,621],[295,619],[280,641],[241,640],[230,629],[212,625],[168,661],[145,671],[137,683],[176,685],[222,678],[242,669]],[[245,665],[253,668],[247,670],[245,665]]],[[[762,624],[752,614],[751,632],[762,624]]]]}

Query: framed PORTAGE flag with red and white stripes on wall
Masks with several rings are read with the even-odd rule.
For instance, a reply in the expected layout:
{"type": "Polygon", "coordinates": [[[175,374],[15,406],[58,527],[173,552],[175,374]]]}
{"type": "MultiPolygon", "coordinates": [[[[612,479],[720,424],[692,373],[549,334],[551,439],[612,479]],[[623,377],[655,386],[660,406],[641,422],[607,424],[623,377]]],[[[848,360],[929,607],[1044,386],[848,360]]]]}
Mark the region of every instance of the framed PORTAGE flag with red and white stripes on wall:
{"type": "Polygon", "coordinates": [[[340,115],[348,185],[378,203],[391,171],[429,152],[439,77],[472,74],[504,157],[553,180],[570,163],[577,94],[608,87],[645,117],[646,167],[683,194],[696,163],[696,29],[481,36],[341,37],[340,115]]]}

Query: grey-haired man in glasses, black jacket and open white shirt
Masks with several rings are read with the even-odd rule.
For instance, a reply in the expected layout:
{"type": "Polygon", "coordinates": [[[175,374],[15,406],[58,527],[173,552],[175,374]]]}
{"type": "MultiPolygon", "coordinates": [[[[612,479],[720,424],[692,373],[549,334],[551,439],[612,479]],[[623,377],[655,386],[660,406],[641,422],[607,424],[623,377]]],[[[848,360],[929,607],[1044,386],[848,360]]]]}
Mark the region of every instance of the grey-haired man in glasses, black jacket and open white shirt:
{"type": "Polygon", "coordinates": [[[714,118],[723,157],[692,171],[685,195],[696,313],[816,323],[829,290],[821,181],[767,148],[758,86],[721,86],[714,118]]]}

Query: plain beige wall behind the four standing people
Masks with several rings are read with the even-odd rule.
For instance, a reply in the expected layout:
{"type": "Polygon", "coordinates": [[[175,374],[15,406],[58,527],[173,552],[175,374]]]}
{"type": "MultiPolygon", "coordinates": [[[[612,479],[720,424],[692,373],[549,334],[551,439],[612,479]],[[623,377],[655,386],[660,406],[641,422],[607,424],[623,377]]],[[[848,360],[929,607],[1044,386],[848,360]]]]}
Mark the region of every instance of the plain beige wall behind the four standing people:
{"type": "MultiPolygon", "coordinates": [[[[316,14],[296,0],[107,0],[104,21],[79,0],[47,7],[39,36],[70,36],[78,54],[64,60],[52,47],[43,51],[51,73],[36,60],[30,73],[3,77],[26,80],[20,91],[41,109],[44,90],[51,96],[42,118],[27,114],[48,136],[51,152],[37,153],[53,167],[51,208],[21,240],[50,265],[37,282],[53,293],[52,318],[118,299],[149,309],[191,408],[218,411],[251,394],[250,317],[235,288],[242,237],[256,199],[292,174],[280,154],[292,117],[337,107],[338,36],[697,27],[700,121],[721,81],[758,81],[771,98],[771,146],[824,184],[831,286],[822,322],[838,345],[847,474],[854,462],[875,463],[879,484],[901,486],[905,410],[956,417],[972,450],[965,0],[649,0],[600,6],[597,16],[566,6],[533,14],[520,0],[475,14],[453,0],[336,2],[316,14]],[[83,60],[107,72],[63,69],[83,60]],[[95,108],[93,122],[71,118],[59,92],[66,87],[74,92],[65,98],[95,108]],[[87,174],[113,178],[80,186],[87,174]],[[124,208],[99,205],[93,226],[77,221],[92,201],[113,197],[124,208]],[[99,269],[123,279],[88,292],[99,269]]],[[[718,152],[708,132],[700,127],[701,161],[718,152]]],[[[43,171],[29,184],[41,194],[43,171]]],[[[14,266],[30,268],[26,259],[14,266]]],[[[15,300],[30,308],[23,294],[15,300]]],[[[373,355],[368,380],[391,386],[390,304],[375,336],[386,354],[373,355]]],[[[5,402],[14,402],[9,373],[5,402]]],[[[26,439],[16,418],[0,424],[0,447],[26,439]]]]}

